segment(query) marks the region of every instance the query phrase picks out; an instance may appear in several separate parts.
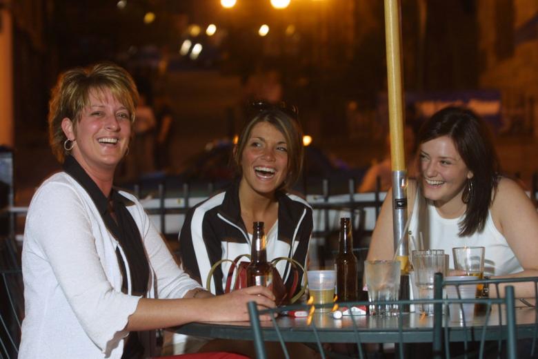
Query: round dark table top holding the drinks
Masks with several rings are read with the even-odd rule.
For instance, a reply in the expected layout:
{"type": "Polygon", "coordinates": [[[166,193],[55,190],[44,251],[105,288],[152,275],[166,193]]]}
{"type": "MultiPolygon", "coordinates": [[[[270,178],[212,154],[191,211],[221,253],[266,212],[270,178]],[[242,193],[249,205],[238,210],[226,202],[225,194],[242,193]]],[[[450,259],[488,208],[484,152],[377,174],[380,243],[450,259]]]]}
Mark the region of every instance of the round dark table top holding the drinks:
{"type": "MultiPolygon", "coordinates": [[[[486,326],[486,340],[497,340],[506,336],[506,318],[502,313],[502,326],[499,326],[499,309],[492,307],[486,326]]],[[[433,317],[421,317],[419,313],[403,313],[401,317],[355,316],[355,326],[350,316],[341,319],[332,318],[332,313],[315,313],[312,324],[321,342],[357,342],[357,332],[361,342],[431,342],[433,338],[433,317]],[[399,330],[401,318],[401,330],[399,330]],[[358,331],[354,330],[357,327],[358,331]]],[[[315,342],[312,324],[307,318],[291,318],[281,316],[275,319],[279,331],[287,342],[315,342]]],[[[466,327],[444,318],[443,330],[448,330],[450,341],[477,340],[484,330],[486,314],[475,316],[466,327]],[[447,325],[448,324],[448,325],[447,325]]],[[[535,308],[521,307],[516,309],[517,338],[535,336],[535,323],[538,312],[535,308]]],[[[272,321],[261,322],[264,340],[278,340],[272,321]]],[[[208,338],[252,340],[250,322],[224,323],[190,323],[172,329],[177,333],[208,338]]]]}

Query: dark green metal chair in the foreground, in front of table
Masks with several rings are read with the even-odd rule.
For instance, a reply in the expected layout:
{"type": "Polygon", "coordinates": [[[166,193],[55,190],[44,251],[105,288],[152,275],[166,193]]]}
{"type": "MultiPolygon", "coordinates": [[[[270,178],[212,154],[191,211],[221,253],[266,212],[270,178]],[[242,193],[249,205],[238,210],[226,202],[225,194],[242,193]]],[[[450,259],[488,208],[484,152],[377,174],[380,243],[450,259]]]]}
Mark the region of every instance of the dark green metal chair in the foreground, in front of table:
{"type": "MultiPolygon", "coordinates": [[[[442,278],[441,278],[442,281],[442,278]]],[[[453,282],[450,282],[453,284],[453,282]]],[[[468,284],[468,283],[467,283],[468,284]]],[[[440,287],[442,289],[442,287],[440,287]]],[[[439,297],[440,298],[440,297],[439,297]]],[[[487,299],[428,299],[428,300],[399,300],[396,302],[352,302],[343,303],[342,306],[360,306],[360,305],[372,305],[372,304],[397,304],[399,310],[397,316],[389,317],[385,320],[379,317],[372,316],[350,316],[350,324],[348,321],[346,329],[346,340],[353,342],[357,346],[357,353],[355,357],[365,358],[364,345],[368,342],[394,342],[395,345],[395,358],[411,358],[412,349],[415,344],[410,343],[425,343],[420,345],[421,356],[446,358],[450,357],[450,343],[453,341],[464,342],[464,347],[467,349],[468,343],[475,342],[476,338],[479,338],[479,358],[484,358],[484,345],[486,340],[495,338],[498,340],[499,345],[506,341],[506,358],[517,358],[517,340],[516,340],[516,327],[515,327],[515,300],[513,296],[513,287],[506,288],[505,298],[487,298],[487,299]],[[492,306],[499,306],[499,324],[489,325],[490,316],[486,315],[486,319],[483,324],[477,325],[476,323],[464,323],[463,327],[451,327],[450,320],[443,315],[443,307],[448,304],[486,304],[488,312],[492,306]],[[435,314],[432,317],[423,318],[419,313],[403,313],[402,308],[404,304],[433,304],[435,314]],[[503,316],[501,316],[501,312],[503,316]],[[503,318],[505,320],[503,320],[503,318]],[[372,327],[372,323],[374,325],[372,327]],[[371,328],[375,329],[371,329],[371,328]],[[444,336],[443,336],[444,331],[444,336]],[[498,338],[498,339],[497,339],[498,338]],[[428,353],[430,351],[430,353],[428,353]]],[[[303,310],[310,311],[310,306],[291,306],[281,307],[275,309],[258,310],[254,302],[248,304],[248,310],[250,314],[250,323],[252,327],[252,336],[255,342],[255,349],[257,358],[267,358],[266,349],[264,345],[265,340],[275,340],[280,342],[282,350],[286,358],[289,358],[286,352],[285,340],[301,341],[309,340],[315,343],[315,348],[321,354],[321,358],[332,357],[332,353],[326,352],[323,349],[322,342],[343,342],[343,335],[341,333],[342,340],[337,337],[339,334],[338,329],[332,327],[330,330],[326,327],[319,327],[315,325],[316,320],[310,322],[308,333],[303,328],[302,333],[299,333],[297,328],[290,328],[279,326],[280,323],[286,323],[286,319],[279,320],[274,318],[275,314],[282,313],[283,311],[303,310]],[[259,320],[259,316],[268,314],[271,319],[271,326],[264,324],[263,327],[259,320]]],[[[326,314],[329,316],[330,314],[326,314]]],[[[332,319],[331,319],[332,320],[332,319]]],[[[505,348],[503,348],[505,350],[505,348]]],[[[499,351],[500,352],[500,351],[499,351]]],[[[340,354],[336,354],[337,358],[343,358],[340,354]]]]}

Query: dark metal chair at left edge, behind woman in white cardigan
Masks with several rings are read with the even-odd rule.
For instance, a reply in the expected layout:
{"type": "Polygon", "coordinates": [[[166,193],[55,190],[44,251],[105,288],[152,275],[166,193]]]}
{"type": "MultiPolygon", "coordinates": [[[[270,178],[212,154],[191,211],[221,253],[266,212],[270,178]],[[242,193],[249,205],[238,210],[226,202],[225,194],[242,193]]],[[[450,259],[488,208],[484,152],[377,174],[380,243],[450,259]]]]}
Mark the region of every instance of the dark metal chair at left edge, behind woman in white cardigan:
{"type": "Polygon", "coordinates": [[[0,270],[0,358],[17,358],[24,313],[20,269],[0,270]]]}

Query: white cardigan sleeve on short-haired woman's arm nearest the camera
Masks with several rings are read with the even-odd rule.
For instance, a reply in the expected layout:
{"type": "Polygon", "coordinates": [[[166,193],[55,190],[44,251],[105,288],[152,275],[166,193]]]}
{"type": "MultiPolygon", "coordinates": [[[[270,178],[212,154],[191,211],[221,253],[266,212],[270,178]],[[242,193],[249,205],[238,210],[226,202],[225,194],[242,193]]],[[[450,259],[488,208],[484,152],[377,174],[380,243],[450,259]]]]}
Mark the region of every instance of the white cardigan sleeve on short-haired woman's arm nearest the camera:
{"type": "Polygon", "coordinates": [[[43,254],[81,327],[105,352],[128,334],[140,298],[112,288],[97,253],[96,225],[74,188],[48,183],[30,205],[25,245],[43,254]]]}

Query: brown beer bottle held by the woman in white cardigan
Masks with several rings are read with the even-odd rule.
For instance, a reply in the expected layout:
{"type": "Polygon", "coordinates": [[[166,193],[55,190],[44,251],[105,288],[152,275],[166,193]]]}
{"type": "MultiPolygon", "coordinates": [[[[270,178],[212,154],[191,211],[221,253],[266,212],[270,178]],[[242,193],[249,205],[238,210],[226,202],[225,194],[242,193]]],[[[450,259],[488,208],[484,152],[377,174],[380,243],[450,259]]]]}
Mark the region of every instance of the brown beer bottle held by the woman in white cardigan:
{"type": "Polygon", "coordinates": [[[263,233],[263,222],[254,222],[250,264],[247,266],[246,275],[248,287],[255,285],[269,287],[272,283],[272,266],[267,262],[266,235],[263,233]]]}

